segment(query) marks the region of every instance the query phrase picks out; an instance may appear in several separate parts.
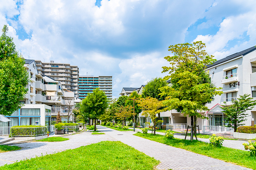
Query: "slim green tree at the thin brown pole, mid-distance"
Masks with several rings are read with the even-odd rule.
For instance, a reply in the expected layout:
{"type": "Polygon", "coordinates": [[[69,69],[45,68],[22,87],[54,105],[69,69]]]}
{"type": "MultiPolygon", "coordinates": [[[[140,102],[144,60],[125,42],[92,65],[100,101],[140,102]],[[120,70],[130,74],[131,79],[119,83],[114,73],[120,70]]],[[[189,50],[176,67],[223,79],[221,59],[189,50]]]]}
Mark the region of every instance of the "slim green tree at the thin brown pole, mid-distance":
{"type": "MultiPolygon", "coordinates": [[[[129,96],[128,99],[126,100],[125,105],[130,105],[132,106],[132,111],[133,111],[133,100],[129,100],[129,99],[140,99],[140,95],[137,93],[137,91],[133,91],[129,96]]],[[[140,106],[138,106],[137,100],[134,100],[134,123],[135,126],[137,127],[137,117],[139,116],[139,114],[141,113],[142,109],[140,106]]]]}

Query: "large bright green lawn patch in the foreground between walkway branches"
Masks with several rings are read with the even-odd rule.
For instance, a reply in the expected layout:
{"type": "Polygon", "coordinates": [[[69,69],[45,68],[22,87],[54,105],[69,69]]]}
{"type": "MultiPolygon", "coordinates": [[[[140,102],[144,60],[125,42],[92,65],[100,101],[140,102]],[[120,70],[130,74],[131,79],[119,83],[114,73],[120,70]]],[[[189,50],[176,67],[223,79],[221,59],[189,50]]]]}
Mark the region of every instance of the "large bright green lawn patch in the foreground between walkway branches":
{"type": "Polygon", "coordinates": [[[152,170],[158,164],[159,161],[120,141],[102,141],[4,165],[0,170],[152,170]]]}

